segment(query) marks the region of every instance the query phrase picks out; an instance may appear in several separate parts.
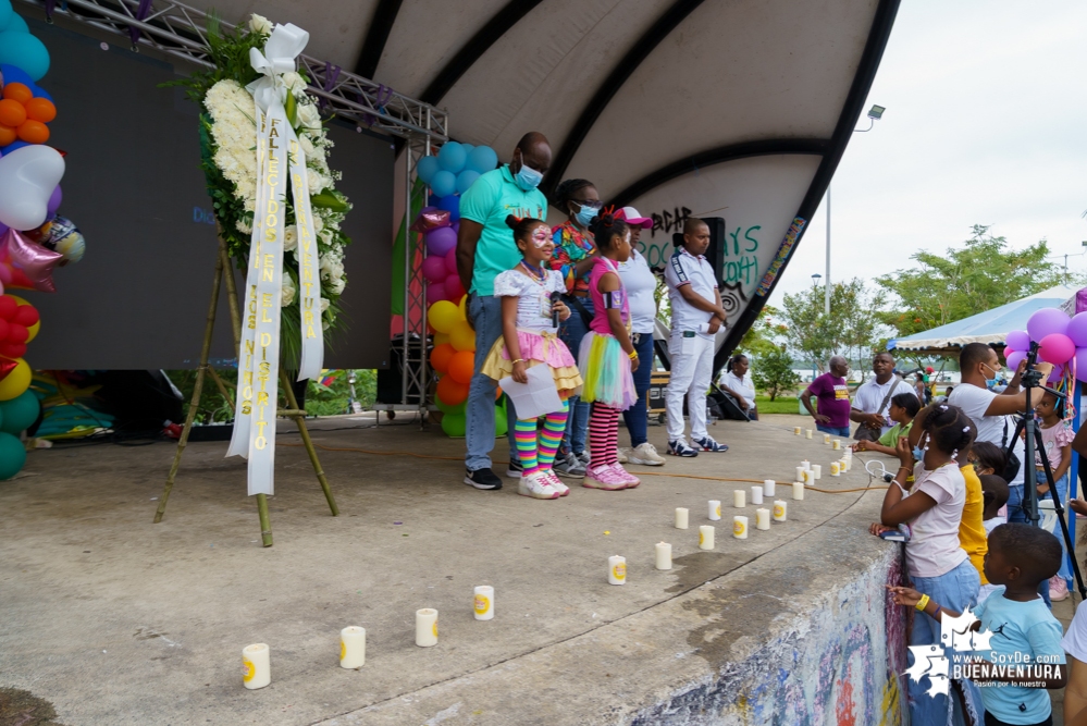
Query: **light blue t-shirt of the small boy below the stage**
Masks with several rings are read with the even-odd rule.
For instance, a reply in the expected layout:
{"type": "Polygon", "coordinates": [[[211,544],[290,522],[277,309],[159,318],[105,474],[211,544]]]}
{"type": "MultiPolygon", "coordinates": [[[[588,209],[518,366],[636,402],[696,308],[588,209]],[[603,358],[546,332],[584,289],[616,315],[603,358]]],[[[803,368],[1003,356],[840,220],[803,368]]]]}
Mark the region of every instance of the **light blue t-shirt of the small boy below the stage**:
{"type": "MultiPolygon", "coordinates": [[[[992,650],[981,655],[985,660],[1012,666],[1023,663],[1024,656],[1029,656],[1030,663],[1064,663],[1061,623],[1041,598],[1015,602],[1004,598],[1004,589],[999,588],[977,606],[974,615],[981,620],[981,632],[992,632],[992,650]]],[[[1037,724],[1052,711],[1045,688],[1003,684],[978,690],[985,710],[1005,724],[1037,724]]]]}

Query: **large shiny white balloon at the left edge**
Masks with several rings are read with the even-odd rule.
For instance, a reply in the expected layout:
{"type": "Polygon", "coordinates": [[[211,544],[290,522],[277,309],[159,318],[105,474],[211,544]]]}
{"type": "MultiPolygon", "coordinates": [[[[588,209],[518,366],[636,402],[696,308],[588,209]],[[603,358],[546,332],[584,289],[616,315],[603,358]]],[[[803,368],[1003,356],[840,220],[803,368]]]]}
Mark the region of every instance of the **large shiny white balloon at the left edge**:
{"type": "Polygon", "coordinates": [[[64,176],[64,157],[34,144],[0,157],[0,222],[35,230],[46,222],[49,196],[64,176]]]}

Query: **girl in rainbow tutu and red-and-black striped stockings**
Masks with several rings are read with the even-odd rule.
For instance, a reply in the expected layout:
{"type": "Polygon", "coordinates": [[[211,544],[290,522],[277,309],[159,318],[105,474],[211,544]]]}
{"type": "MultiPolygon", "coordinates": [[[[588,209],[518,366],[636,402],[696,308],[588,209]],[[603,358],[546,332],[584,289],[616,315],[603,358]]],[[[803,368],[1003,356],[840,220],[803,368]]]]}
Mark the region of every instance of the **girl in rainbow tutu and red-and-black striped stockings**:
{"type": "Polygon", "coordinates": [[[630,258],[630,230],[607,209],[593,219],[592,231],[600,253],[589,274],[589,294],[595,312],[578,355],[584,379],[581,399],[592,404],[591,453],[583,485],[632,489],[641,482],[616,457],[619,414],[638,398],[631,372],[638,369],[639,360],[630,342],[630,307],[617,267],[630,258]]]}

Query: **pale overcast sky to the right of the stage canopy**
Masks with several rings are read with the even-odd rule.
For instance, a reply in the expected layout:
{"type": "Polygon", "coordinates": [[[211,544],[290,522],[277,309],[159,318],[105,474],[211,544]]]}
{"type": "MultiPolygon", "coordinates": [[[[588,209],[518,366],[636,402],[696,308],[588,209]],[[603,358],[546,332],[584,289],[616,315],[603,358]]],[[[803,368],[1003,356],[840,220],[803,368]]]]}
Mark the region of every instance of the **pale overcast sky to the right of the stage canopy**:
{"type": "MultiPolygon", "coordinates": [[[[865,106],[887,111],[853,135],[831,185],[832,278],[910,267],[975,223],[1016,248],[1046,238],[1053,255],[1083,253],[1085,28],[1087,3],[1073,0],[903,2],[865,106]]],[[[824,201],[771,305],[825,273],[826,229],[824,201]]]]}

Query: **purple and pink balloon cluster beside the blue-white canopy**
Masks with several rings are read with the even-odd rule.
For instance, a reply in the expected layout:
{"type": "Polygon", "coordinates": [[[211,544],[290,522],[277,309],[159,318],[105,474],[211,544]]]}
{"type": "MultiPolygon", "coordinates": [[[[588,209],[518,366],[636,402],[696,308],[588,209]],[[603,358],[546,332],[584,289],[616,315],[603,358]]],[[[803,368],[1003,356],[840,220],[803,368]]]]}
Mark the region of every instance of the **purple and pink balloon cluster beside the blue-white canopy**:
{"type": "Polygon", "coordinates": [[[1057,383],[1074,371],[1078,381],[1087,383],[1087,312],[1074,318],[1058,308],[1042,308],[1027,320],[1026,330],[1008,334],[1004,360],[1017,368],[1027,357],[1032,343],[1038,343],[1038,358],[1053,364],[1050,383],[1057,383]]]}

